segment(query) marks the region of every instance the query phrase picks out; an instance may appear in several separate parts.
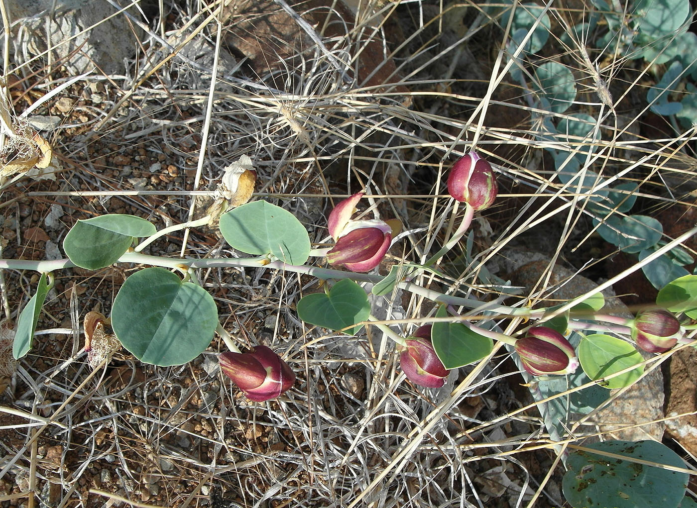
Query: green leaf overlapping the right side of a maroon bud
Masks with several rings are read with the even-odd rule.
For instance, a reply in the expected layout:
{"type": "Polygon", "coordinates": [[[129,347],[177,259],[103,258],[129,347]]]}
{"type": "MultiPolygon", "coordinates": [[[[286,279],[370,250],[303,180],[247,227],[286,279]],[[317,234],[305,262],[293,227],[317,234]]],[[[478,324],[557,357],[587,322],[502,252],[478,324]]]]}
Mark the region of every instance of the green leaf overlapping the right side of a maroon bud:
{"type": "MultiPolygon", "coordinates": [[[[445,306],[438,309],[436,317],[447,317],[445,306]]],[[[458,369],[478,362],[493,350],[493,341],[489,337],[473,332],[462,323],[434,323],[431,341],[446,369],[458,369]]]]}

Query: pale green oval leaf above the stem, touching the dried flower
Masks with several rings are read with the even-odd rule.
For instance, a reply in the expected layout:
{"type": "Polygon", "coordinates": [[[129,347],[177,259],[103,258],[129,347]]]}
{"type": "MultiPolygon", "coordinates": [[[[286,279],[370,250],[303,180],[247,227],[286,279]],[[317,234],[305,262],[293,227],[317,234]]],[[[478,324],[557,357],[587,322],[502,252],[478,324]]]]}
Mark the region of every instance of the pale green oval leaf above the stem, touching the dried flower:
{"type": "Polygon", "coordinates": [[[273,254],[291,265],[309,257],[305,226],[287,210],[266,201],[252,201],[220,217],[220,233],[233,249],[246,254],[273,254]]]}

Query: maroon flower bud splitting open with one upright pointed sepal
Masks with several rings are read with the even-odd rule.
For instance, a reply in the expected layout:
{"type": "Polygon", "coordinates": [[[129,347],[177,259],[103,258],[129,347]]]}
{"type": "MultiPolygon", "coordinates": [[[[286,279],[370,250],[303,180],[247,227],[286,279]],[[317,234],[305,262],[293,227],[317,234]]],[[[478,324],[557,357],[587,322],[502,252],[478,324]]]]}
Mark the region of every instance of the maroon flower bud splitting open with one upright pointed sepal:
{"type": "Polygon", "coordinates": [[[392,226],[382,220],[352,220],[362,192],[344,199],[329,214],[329,233],[336,245],[327,253],[332,265],[368,272],[385,257],[392,242],[392,226]]]}

